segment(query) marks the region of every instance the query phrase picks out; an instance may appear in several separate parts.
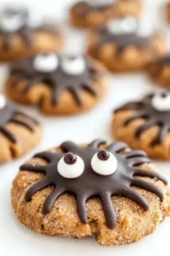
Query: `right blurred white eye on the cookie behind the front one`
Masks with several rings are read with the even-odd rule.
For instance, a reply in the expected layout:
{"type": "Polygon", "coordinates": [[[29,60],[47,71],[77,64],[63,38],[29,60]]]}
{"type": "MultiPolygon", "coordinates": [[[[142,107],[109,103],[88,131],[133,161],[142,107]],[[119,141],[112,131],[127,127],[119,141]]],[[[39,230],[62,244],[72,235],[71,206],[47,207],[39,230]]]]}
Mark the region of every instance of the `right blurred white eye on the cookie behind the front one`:
{"type": "Polygon", "coordinates": [[[61,67],[67,75],[80,75],[85,70],[85,59],[83,57],[68,57],[61,61],[61,67]]]}

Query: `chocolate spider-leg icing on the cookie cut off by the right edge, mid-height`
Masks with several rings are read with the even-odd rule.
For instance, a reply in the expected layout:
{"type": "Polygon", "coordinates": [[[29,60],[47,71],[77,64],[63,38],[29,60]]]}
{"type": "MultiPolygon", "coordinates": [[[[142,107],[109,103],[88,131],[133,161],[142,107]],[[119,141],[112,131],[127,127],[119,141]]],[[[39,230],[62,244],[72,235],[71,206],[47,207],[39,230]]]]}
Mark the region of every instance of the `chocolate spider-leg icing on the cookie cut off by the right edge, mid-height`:
{"type": "MultiPolygon", "coordinates": [[[[139,138],[143,132],[151,128],[152,126],[159,126],[159,133],[152,141],[151,146],[156,146],[162,143],[167,133],[170,130],[170,111],[159,111],[152,107],[152,98],[155,94],[148,94],[139,102],[129,102],[122,107],[115,110],[115,112],[121,112],[125,110],[134,110],[135,113],[132,116],[127,117],[124,126],[127,126],[132,121],[138,119],[145,119],[145,123],[140,124],[136,128],[135,136],[139,138]]],[[[165,97],[165,93],[162,94],[162,98],[165,97]]]]}

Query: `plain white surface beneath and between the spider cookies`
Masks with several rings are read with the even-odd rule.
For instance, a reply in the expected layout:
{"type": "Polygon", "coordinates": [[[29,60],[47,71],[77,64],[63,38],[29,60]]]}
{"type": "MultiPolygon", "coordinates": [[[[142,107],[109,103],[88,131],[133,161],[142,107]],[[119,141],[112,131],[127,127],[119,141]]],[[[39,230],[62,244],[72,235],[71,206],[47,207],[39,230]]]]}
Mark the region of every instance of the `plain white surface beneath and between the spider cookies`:
{"type": "MultiPolygon", "coordinates": [[[[6,1],[1,0],[1,3],[6,1]]],[[[23,2],[23,1],[22,1],[23,2]]],[[[25,1],[26,2],[26,1],[25,1]]],[[[67,3],[71,0],[29,0],[29,6],[41,8],[41,11],[50,13],[53,17],[55,13],[63,15],[62,11],[67,3]],[[52,5],[53,3],[53,5],[52,5]],[[54,4],[55,3],[55,4],[54,4]],[[31,5],[32,4],[32,5],[31,5]],[[60,4],[60,10],[57,5],[60,4]]],[[[146,1],[146,28],[150,24],[156,24],[159,16],[159,8],[164,4],[162,0],[146,1]]],[[[1,5],[1,4],[0,4],[1,5]]],[[[33,8],[33,7],[32,7],[33,8]]],[[[168,31],[165,24],[163,31],[168,31]]],[[[169,28],[170,29],[170,28],[169,28]]],[[[66,31],[68,32],[68,31],[66,31]]],[[[67,37],[73,33],[65,33],[67,37]]],[[[71,49],[78,49],[78,43],[83,40],[78,32],[73,38],[71,36],[69,45],[71,49]],[[74,46],[75,45],[75,46],[74,46]]],[[[6,67],[0,67],[1,86],[6,77],[6,67]]],[[[10,204],[10,186],[13,177],[17,174],[18,166],[24,163],[36,151],[46,149],[60,144],[63,140],[75,140],[76,142],[88,142],[94,138],[101,137],[111,141],[110,121],[111,110],[119,103],[129,99],[142,96],[146,92],[155,89],[150,85],[150,81],[142,74],[131,74],[122,76],[113,76],[110,79],[110,91],[106,100],[91,112],[75,117],[48,118],[41,117],[44,125],[44,137],[41,144],[24,158],[13,161],[1,167],[0,170],[0,255],[1,256],[147,256],[162,255],[166,256],[170,253],[169,237],[170,237],[170,218],[163,222],[156,232],[152,235],[141,239],[138,243],[125,246],[102,247],[92,238],[90,239],[63,239],[57,237],[45,237],[34,234],[31,230],[22,226],[15,218],[10,204]]],[[[156,90],[156,89],[155,89],[156,90]]],[[[162,174],[170,181],[170,164],[156,162],[162,174]]]]}

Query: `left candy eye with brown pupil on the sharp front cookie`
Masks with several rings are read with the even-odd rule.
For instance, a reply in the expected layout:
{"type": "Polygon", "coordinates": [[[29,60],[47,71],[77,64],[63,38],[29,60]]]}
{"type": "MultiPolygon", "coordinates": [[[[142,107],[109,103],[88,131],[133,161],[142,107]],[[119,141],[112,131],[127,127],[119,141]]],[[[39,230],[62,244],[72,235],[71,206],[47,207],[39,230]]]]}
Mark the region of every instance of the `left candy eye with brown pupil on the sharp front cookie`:
{"type": "Polygon", "coordinates": [[[67,179],[74,179],[81,176],[84,169],[85,165],[83,160],[80,156],[73,153],[65,154],[57,165],[60,176],[66,177],[67,179]]]}

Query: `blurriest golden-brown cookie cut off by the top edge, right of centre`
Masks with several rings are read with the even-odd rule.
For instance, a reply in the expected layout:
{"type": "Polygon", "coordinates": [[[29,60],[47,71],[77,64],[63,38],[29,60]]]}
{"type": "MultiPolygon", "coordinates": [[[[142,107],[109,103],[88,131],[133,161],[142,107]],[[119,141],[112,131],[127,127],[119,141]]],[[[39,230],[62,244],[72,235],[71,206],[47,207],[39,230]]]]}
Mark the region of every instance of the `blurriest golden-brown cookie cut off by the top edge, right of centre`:
{"type": "Polygon", "coordinates": [[[122,15],[138,18],[141,0],[94,0],[74,4],[70,11],[71,23],[77,27],[94,28],[104,26],[110,19],[122,15]]]}

